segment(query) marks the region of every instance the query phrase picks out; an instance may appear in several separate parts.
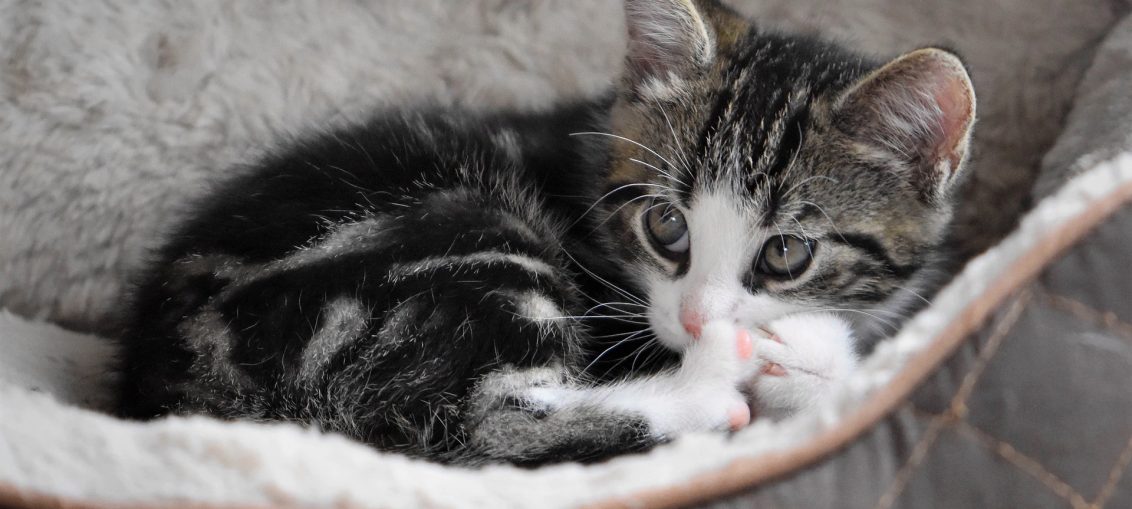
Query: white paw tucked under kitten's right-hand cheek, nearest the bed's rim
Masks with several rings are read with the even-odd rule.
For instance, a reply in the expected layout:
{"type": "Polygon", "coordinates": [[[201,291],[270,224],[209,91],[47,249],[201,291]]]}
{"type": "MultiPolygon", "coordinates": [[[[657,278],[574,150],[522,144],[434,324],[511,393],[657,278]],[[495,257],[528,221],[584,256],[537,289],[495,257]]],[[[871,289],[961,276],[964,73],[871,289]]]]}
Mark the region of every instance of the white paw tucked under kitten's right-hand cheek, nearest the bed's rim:
{"type": "Polygon", "coordinates": [[[748,383],[760,416],[784,417],[821,403],[857,365],[852,330],[827,313],[772,321],[756,340],[761,372],[748,383]]]}

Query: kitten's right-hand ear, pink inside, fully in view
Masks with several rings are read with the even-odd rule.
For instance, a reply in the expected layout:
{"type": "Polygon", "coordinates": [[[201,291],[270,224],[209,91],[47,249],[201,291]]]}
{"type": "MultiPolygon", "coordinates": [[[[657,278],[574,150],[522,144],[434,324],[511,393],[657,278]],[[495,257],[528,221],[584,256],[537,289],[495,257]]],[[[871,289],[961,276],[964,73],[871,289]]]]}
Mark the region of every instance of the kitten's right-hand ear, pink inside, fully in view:
{"type": "Polygon", "coordinates": [[[958,180],[975,123],[975,89],[963,63],[936,49],[912,51],[866,76],[837,107],[839,127],[878,149],[936,201],[958,180]]]}

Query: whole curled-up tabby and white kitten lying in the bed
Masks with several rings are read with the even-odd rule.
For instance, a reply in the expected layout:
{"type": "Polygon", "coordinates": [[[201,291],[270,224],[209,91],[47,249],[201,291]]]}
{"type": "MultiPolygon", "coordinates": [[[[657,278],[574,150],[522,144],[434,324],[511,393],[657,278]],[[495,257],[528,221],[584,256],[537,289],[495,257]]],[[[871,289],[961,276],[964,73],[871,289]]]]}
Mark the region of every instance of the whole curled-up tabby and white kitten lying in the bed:
{"type": "Polygon", "coordinates": [[[384,112],[221,184],[136,290],[122,413],[535,465],[816,404],[852,370],[847,313],[932,271],[967,74],[714,1],[625,6],[608,97],[384,112]],[[679,357],[638,366],[655,344],[679,357]]]}

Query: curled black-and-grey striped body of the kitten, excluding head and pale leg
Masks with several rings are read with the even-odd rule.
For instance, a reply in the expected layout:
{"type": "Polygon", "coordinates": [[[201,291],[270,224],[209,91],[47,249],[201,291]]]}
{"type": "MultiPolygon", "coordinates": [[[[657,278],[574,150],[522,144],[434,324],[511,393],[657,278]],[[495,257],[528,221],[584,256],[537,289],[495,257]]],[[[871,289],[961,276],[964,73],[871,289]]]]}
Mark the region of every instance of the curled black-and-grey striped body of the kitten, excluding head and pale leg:
{"type": "Polygon", "coordinates": [[[394,112],[224,184],[139,290],[130,413],[477,452],[464,415],[484,376],[583,360],[586,331],[566,317],[589,305],[563,249],[584,201],[547,187],[595,176],[600,145],[568,143],[592,107],[394,112]]]}

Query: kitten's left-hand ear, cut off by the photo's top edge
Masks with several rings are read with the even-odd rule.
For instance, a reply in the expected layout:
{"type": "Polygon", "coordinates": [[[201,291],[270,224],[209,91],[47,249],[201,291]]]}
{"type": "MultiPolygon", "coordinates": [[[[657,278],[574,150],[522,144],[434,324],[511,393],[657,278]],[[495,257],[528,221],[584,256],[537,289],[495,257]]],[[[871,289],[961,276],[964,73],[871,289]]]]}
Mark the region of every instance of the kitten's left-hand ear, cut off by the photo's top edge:
{"type": "Polygon", "coordinates": [[[714,58],[711,28],[694,0],[625,0],[627,85],[662,98],[714,58]]]}

